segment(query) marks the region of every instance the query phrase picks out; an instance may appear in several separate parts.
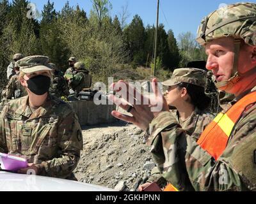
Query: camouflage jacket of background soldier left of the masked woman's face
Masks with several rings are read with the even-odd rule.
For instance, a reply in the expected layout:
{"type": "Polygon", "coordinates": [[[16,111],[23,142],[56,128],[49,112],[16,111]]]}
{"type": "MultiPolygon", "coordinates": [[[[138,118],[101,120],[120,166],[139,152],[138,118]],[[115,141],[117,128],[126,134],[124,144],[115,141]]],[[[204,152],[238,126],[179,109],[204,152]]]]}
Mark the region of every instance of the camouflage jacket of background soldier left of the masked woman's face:
{"type": "Polygon", "coordinates": [[[12,99],[26,96],[28,92],[25,87],[20,84],[19,74],[12,76],[4,91],[2,92],[3,98],[12,99]]]}

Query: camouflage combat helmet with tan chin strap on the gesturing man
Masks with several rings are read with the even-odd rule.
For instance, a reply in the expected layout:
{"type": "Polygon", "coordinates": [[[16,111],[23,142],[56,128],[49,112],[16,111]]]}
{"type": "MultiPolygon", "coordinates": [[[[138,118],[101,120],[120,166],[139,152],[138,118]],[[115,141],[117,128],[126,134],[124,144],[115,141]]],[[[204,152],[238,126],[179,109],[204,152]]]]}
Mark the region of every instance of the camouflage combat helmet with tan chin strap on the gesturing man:
{"type": "Polygon", "coordinates": [[[238,71],[238,56],[241,40],[244,43],[256,45],[256,4],[236,3],[219,8],[205,17],[198,27],[196,40],[200,45],[205,45],[212,40],[223,37],[234,38],[234,61],[232,76],[229,80],[215,82],[216,87],[222,91],[228,91],[244,75],[250,75],[256,71],[252,69],[246,73],[238,71]]]}

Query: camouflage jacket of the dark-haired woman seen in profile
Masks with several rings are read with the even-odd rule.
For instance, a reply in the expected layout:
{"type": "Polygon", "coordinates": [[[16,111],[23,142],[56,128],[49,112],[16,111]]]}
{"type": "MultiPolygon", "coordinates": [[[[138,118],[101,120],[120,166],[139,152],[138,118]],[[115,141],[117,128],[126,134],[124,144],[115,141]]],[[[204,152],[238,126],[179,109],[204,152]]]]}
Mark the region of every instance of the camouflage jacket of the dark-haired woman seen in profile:
{"type": "MultiPolygon", "coordinates": [[[[199,139],[206,126],[208,126],[208,124],[214,119],[214,115],[201,112],[198,110],[198,108],[195,108],[195,111],[184,122],[181,122],[179,119],[179,112],[177,112],[177,110],[170,110],[170,112],[173,114],[173,117],[175,117],[182,129],[184,129],[186,133],[195,141],[199,139]]],[[[157,182],[161,186],[161,183],[164,182],[163,178],[161,177],[162,175],[156,167],[151,171],[151,176],[147,182],[157,182]]]]}

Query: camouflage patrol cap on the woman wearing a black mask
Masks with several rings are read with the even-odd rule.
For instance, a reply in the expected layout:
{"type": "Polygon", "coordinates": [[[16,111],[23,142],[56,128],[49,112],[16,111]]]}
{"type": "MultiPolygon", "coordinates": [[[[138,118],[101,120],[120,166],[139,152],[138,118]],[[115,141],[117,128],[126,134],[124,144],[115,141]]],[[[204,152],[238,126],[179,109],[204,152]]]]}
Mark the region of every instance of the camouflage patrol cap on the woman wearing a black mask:
{"type": "Polygon", "coordinates": [[[49,57],[42,55],[28,56],[17,61],[20,71],[24,73],[32,73],[35,71],[52,71],[47,67],[49,57]]]}

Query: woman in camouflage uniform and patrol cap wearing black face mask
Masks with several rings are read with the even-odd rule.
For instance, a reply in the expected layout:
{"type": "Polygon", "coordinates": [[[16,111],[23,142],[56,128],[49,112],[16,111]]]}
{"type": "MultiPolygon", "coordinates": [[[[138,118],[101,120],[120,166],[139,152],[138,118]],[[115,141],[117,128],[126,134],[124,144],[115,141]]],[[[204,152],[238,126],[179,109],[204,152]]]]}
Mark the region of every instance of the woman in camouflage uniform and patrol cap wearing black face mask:
{"type": "Polygon", "coordinates": [[[28,96],[10,101],[0,115],[0,152],[25,156],[36,175],[72,178],[83,149],[76,113],[70,105],[48,94],[49,58],[29,56],[18,61],[20,83],[28,96]]]}

